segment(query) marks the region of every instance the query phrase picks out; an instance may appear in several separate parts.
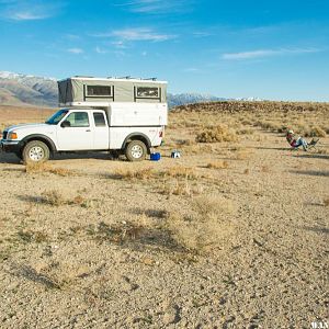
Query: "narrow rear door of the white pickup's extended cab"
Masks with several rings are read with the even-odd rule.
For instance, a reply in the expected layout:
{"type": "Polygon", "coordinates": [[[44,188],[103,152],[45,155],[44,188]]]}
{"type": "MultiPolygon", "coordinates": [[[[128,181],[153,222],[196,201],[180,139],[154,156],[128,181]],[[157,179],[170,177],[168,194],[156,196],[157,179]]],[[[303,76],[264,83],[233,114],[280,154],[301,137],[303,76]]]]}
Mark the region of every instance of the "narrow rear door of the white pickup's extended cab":
{"type": "Polygon", "coordinates": [[[109,149],[110,147],[110,134],[109,125],[104,111],[93,111],[93,149],[109,149]]]}

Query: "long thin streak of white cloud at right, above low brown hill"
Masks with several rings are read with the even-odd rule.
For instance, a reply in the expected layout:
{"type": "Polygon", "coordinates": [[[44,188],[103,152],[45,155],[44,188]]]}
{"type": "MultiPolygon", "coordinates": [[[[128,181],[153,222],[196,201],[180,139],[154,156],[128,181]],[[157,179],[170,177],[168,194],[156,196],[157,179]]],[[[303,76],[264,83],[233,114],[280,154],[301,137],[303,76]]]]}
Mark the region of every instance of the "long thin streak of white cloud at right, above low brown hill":
{"type": "Polygon", "coordinates": [[[264,58],[272,56],[290,55],[290,54],[307,54],[307,53],[317,53],[319,49],[316,48],[295,48],[295,49],[259,49],[252,52],[241,52],[241,53],[227,53],[223,54],[223,59],[228,60],[240,60],[240,59],[254,59],[254,58],[264,58]]]}

